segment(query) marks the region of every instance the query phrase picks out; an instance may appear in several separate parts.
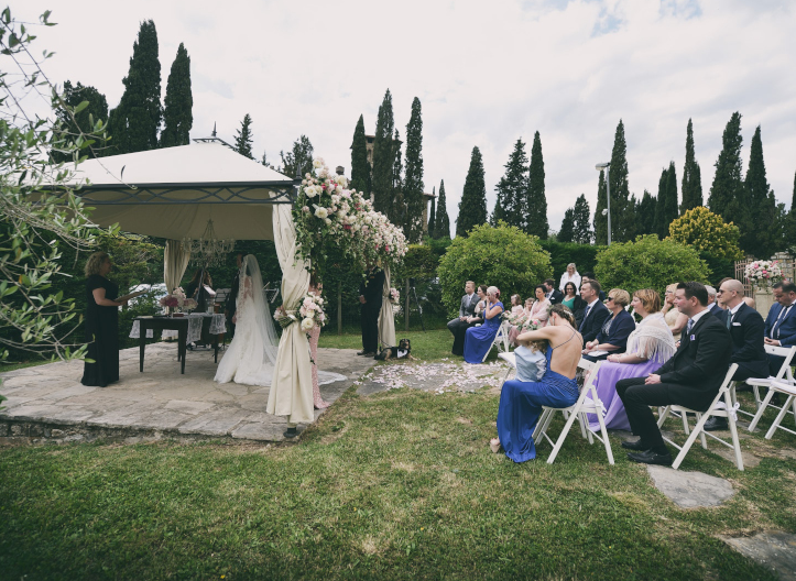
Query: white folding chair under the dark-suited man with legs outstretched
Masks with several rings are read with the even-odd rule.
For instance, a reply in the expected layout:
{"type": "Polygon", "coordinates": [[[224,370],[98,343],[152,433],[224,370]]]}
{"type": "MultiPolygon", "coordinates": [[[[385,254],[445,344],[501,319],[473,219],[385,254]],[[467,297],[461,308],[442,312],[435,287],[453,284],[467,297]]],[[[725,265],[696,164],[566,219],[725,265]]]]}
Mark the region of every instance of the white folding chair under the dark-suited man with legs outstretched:
{"type": "Polygon", "coordinates": [[[686,454],[688,453],[688,450],[690,450],[691,446],[694,445],[694,441],[697,439],[697,436],[700,437],[702,441],[702,448],[706,450],[708,449],[708,441],[705,439],[705,436],[710,436],[715,440],[723,443],[728,448],[732,448],[735,452],[735,465],[738,467],[738,470],[743,470],[743,458],[741,457],[741,443],[738,440],[738,428],[735,427],[735,417],[734,417],[734,410],[732,408],[732,398],[730,397],[730,383],[732,382],[732,375],[735,373],[735,370],[738,369],[738,363],[733,363],[730,365],[730,369],[727,372],[727,375],[724,375],[724,381],[721,382],[721,387],[719,387],[719,393],[716,394],[716,397],[713,398],[712,403],[710,404],[710,407],[707,412],[698,412],[696,409],[690,409],[685,406],[680,405],[668,405],[664,408],[663,413],[661,414],[661,417],[657,420],[657,426],[661,428],[664,425],[664,421],[666,421],[666,418],[669,417],[669,415],[673,412],[679,412],[680,417],[683,419],[683,430],[688,435],[688,439],[683,445],[683,447],[677,446],[675,442],[669,440],[668,438],[664,438],[668,443],[674,446],[679,450],[679,453],[677,454],[677,458],[675,458],[675,461],[672,463],[672,468],[677,470],[677,468],[680,465],[683,460],[685,459],[686,454]],[[723,399],[723,402],[722,402],[723,399]],[[719,404],[719,406],[717,406],[719,404]],[[723,405],[721,405],[723,404],[723,405]],[[688,434],[688,415],[687,414],[695,414],[697,416],[697,425],[694,427],[694,430],[688,434]],[[727,442],[722,440],[721,438],[710,434],[709,431],[705,431],[704,426],[705,423],[708,420],[708,418],[717,416],[717,417],[726,417],[727,423],[730,425],[730,435],[732,436],[732,443],[727,442]]]}

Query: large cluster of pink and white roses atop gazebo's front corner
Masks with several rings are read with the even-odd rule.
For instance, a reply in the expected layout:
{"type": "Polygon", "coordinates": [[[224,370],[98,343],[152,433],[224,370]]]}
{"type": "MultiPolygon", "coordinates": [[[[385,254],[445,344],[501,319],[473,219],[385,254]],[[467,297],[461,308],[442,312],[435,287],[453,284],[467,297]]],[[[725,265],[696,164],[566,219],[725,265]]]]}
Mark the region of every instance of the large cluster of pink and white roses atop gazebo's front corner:
{"type": "Polygon", "coordinates": [[[406,254],[401,229],[373,210],[362,193],[348,189],[348,178],[330,173],[323,160],[313,165],[313,173],[302,179],[293,210],[296,257],[309,260],[316,272],[323,272],[325,244],[335,243],[361,265],[379,260],[400,262],[406,254]]]}

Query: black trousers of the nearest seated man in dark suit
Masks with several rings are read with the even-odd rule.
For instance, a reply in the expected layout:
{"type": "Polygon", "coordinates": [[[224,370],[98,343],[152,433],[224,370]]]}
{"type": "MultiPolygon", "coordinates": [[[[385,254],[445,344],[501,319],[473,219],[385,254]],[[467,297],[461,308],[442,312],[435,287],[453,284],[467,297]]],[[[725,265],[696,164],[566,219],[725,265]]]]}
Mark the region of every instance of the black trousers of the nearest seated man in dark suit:
{"type": "Polygon", "coordinates": [[[628,413],[630,429],[656,453],[668,453],[655,416],[650,406],[681,405],[706,412],[718,390],[702,390],[673,383],[646,385],[645,377],[631,377],[617,382],[617,394],[628,413]]]}

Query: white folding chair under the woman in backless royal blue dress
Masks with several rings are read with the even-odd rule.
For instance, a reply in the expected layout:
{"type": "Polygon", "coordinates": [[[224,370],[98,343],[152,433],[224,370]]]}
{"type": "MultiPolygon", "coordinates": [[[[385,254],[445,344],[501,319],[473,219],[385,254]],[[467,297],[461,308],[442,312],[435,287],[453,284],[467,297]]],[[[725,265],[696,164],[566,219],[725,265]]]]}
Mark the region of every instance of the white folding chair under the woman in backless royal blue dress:
{"type": "MultiPolygon", "coordinates": [[[[585,360],[581,359],[581,362],[585,360]]],[[[590,362],[588,362],[590,363],[590,362]]],[[[600,440],[603,446],[606,447],[606,453],[608,454],[608,462],[610,464],[613,464],[613,451],[611,450],[611,442],[608,439],[608,430],[606,429],[606,423],[602,419],[602,416],[606,413],[606,407],[602,405],[602,402],[597,395],[597,388],[595,387],[595,377],[597,376],[597,372],[600,369],[600,365],[602,364],[602,361],[593,364],[591,368],[591,373],[589,374],[589,379],[586,381],[586,384],[584,385],[584,388],[580,391],[580,395],[578,396],[578,401],[575,403],[575,405],[568,406],[568,407],[548,407],[543,406],[542,416],[539,416],[539,420],[536,424],[536,429],[533,434],[533,439],[535,442],[541,443],[542,438],[547,440],[550,446],[553,446],[553,451],[550,452],[549,458],[547,458],[547,463],[552,464],[556,456],[558,456],[558,452],[561,449],[561,446],[564,446],[564,440],[567,439],[567,435],[569,434],[569,429],[573,427],[573,423],[578,419],[580,421],[581,430],[586,429],[586,432],[588,435],[589,443],[593,443],[593,438],[597,438],[600,440]],[[549,428],[550,421],[553,421],[553,416],[556,414],[556,412],[561,412],[565,417],[569,415],[567,418],[567,421],[564,424],[564,429],[561,429],[561,432],[558,435],[558,439],[554,442],[549,436],[547,436],[547,429],[549,428]],[[593,434],[590,429],[587,429],[589,421],[586,417],[586,414],[595,414],[597,415],[597,420],[600,423],[600,434],[601,437],[597,434],[593,434]]]]}

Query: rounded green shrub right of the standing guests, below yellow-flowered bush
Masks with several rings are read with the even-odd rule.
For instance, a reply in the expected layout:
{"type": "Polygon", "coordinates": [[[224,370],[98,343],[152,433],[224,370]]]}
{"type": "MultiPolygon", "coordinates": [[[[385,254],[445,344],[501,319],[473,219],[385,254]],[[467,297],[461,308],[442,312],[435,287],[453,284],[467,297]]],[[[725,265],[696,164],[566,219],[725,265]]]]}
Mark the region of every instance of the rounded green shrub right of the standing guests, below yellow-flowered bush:
{"type": "Polygon", "coordinates": [[[663,296],[672,283],[707,283],[710,270],[693,248],[647,234],[600,251],[595,274],[603,288],[654,288],[663,296]]]}

